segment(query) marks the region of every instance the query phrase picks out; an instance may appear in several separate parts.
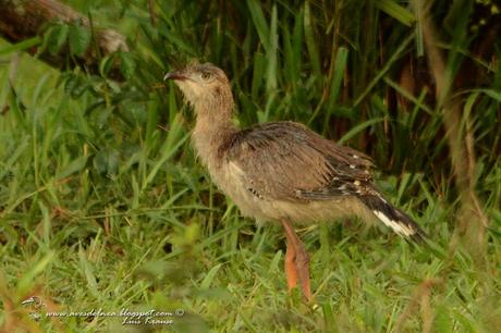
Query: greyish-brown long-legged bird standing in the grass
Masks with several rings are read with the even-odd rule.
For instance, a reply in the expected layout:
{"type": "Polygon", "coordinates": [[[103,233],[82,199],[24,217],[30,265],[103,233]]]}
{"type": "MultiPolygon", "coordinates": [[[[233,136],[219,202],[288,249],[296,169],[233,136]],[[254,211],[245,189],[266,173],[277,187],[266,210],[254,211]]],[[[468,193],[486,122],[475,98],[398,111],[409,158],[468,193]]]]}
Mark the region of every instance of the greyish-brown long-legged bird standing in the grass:
{"type": "Polygon", "coordinates": [[[292,121],[240,128],[230,81],[211,63],[190,63],[163,79],[173,81],[194,110],[193,146],[213,183],[243,215],[283,226],[289,292],[301,287],[306,301],[313,300],[309,255],[296,224],[359,217],[408,239],[426,237],[376,187],[368,156],[292,121]]]}

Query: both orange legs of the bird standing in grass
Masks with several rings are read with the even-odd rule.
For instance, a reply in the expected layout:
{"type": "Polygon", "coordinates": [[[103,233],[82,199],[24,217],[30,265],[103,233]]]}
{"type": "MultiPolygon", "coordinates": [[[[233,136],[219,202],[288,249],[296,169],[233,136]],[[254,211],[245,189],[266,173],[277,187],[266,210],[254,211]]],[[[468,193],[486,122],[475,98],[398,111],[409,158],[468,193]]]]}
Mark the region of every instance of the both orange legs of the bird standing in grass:
{"type": "Polygon", "coordinates": [[[285,274],[288,276],[289,289],[301,283],[301,289],[306,300],[313,299],[311,288],[309,284],[309,256],[305,250],[303,243],[297,237],[291,222],[282,220],[285,236],[288,238],[288,250],[285,254],[285,274]]]}

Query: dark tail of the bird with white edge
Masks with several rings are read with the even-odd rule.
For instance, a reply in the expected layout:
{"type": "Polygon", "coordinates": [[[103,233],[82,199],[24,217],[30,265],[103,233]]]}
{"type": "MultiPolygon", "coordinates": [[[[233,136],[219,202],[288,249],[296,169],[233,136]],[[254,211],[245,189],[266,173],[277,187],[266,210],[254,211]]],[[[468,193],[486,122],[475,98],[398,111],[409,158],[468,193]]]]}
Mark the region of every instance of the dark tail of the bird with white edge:
{"type": "Polygon", "coordinates": [[[426,233],[411,217],[388,202],[379,194],[364,196],[362,201],[382,223],[399,235],[416,242],[426,238],[426,233]]]}

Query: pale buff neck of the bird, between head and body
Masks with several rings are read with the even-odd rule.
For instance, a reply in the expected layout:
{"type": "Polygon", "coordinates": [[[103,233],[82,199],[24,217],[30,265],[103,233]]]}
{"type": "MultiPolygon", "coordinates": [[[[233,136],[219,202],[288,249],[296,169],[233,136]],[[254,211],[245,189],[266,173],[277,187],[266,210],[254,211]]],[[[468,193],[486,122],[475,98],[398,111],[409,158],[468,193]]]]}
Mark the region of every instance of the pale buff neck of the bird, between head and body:
{"type": "Polygon", "coordinates": [[[233,101],[223,104],[197,103],[194,108],[194,146],[201,162],[211,172],[221,166],[220,147],[239,131],[233,123],[233,101]]]}

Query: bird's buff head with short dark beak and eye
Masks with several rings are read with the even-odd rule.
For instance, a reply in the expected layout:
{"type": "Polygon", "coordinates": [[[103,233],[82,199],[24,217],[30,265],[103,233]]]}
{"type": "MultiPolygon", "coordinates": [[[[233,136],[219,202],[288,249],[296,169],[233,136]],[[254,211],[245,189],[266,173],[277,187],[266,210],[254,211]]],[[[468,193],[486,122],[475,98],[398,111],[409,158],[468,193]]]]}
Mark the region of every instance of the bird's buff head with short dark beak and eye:
{"type": "Polygon", "coordinates": [[[163,79],[174,81],[195,109],[197,107],[233,107],[233,97],[227,75],[210,63],[190,64],[182,70],[168,73],[163,79]]]}

